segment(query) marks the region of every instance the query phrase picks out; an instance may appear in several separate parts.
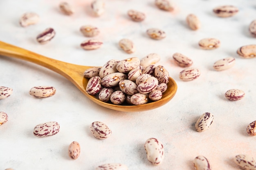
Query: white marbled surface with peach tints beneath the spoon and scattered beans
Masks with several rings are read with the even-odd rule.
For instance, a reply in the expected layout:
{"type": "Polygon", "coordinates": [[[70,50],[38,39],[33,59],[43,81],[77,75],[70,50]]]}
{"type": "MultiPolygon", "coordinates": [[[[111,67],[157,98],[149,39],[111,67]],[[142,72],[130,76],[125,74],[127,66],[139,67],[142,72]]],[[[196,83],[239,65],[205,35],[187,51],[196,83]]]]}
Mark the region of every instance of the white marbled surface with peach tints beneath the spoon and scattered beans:
{"type": "Polygon", "coordinates": [[[256,59],[242,59],[236,54],[240,46],[255,44],[248,26],[256,19],[253,0],[173,0],[175,12],[157,9],[154,0],[107,0],[106,13],[94,17],[90,0],[68,0],[76,9],[72,16],[60,13],[59,0],[2,0],[0,1],[0,40],[38,54],[79,65],[102,66],[110,59],[145,57],[155,52],[178,85],[175,97],[168,104],[144,112],[119,112],[97,106],[64,77],[39,65],[0,56],[0,86],[13,88],[13,94],[0,100],[0,111],[9,120],[0,126],[0,169],[15,170],[94,170],[104,163],[123,163],[130,170],[193,170],[193,159],[203,155],[213,170],[239,170],[234,163],[237,154],[256,158],[256,137],[246,132],[247,125],[256,120],[256,59]],[[240,11],[234,17],[216,17],[212,9],[231,4],[240,11]],[[137,9],[146,13],[144,22],[132,22],[126,12],[137,9]],[[19,17],[28,11],[40,15],[40,22],[27,28],[18,24],[19,17]],[[192,31],[185,22],[194,13],[202,28],[192,31]],[[92,24],[101,30],[100,49],[85,51],[80,43],[87,39],[80,26],[92,24]],[[45,45],[36,36],[47,27],[56,30],[56,37],[45,45]],[[148,28],[160,28],[167,34],[155,41],[146,35],[148,28]],[[216,50],[202,50],[202,38],[220,39],[216,50]],[[121,38],[129,38],[137,51],[124,53],[118,46],[121,38]],[[201,76],[189,82],[179,79],[183,70],[172,55],[180,52],[193,60],[201,76]],[[222,72],[213,70],[215,61],[234,57],[236,65],[222,72]],[[38,99],[29,89],[38,85],[56,88],[50,98],[38,99]],[[245,98],[228,101],[228,89],[243,89],[245,98]],[[195,131],[195,122],[204,112],[214,115],[209,130],[195,131]],[[33,135],[36,124],[56,121],[60,132],[39,138],[33,135]],[[92,136],[89,126],[101,121],[112,129],[112,136],[99,140],[92,136]],[[159,139],[165,150],[161,165],[153,166],[146,159],[144,142],[150,137],[159,139]],[[72,141],[81,145],[81,155],[72,160],[67,149],[72,141]]]}

